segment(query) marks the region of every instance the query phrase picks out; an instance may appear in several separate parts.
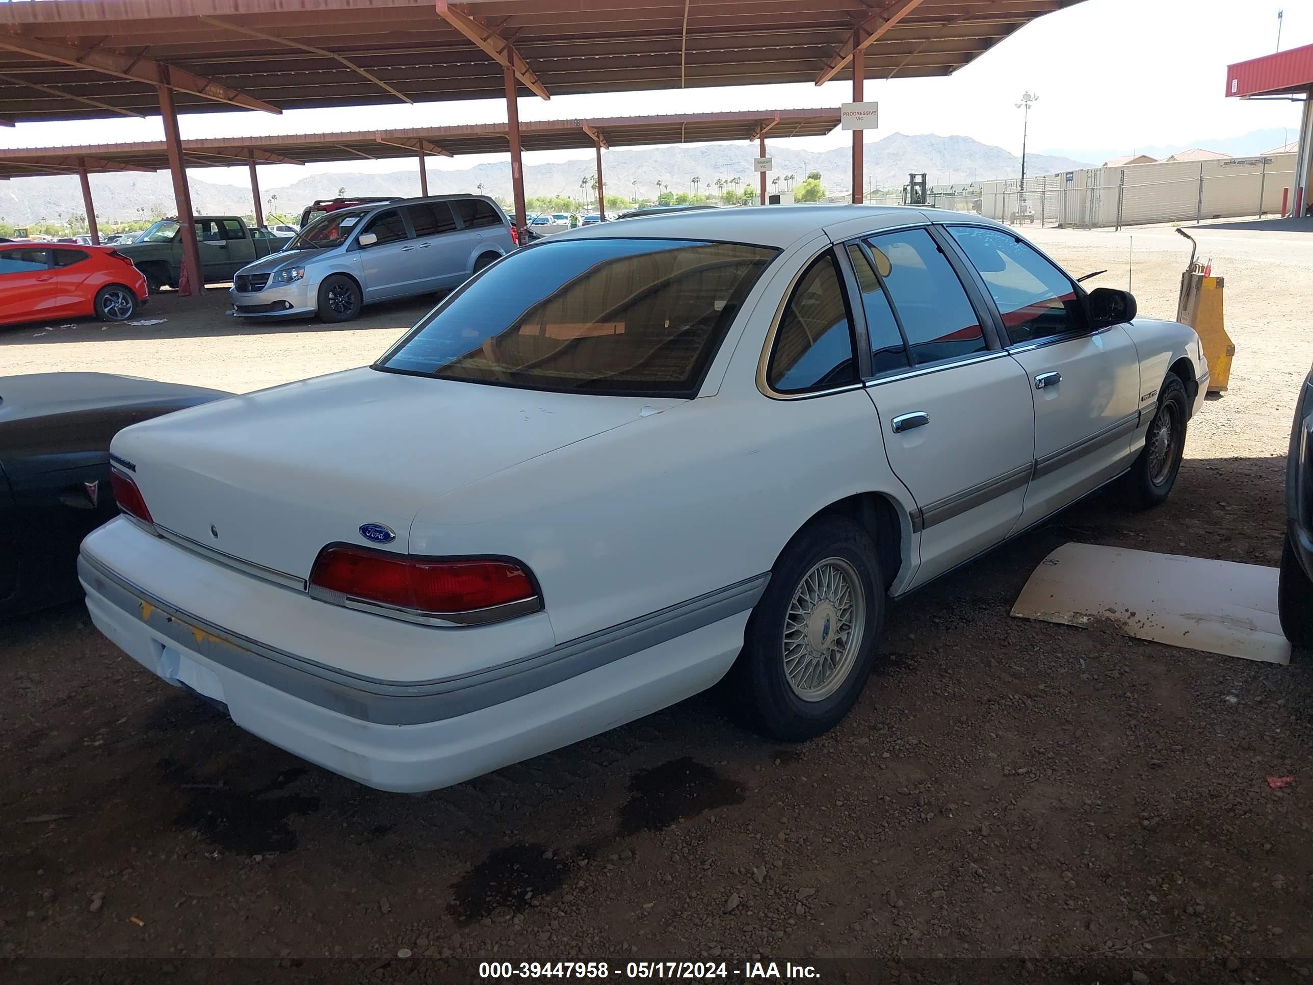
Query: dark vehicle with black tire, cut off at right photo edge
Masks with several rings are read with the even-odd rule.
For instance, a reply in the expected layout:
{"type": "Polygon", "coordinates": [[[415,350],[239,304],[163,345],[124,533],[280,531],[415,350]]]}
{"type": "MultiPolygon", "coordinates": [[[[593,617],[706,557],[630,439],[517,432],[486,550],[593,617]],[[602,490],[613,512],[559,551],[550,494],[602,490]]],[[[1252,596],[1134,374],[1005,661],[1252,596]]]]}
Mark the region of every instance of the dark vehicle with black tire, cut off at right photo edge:
{"type": "Polygon", "coordinates": [[[1313,650],[1313,370],[1300,386],[1285,460],[1285,541],[1278,603],[1285,638],[1313,650]]]}

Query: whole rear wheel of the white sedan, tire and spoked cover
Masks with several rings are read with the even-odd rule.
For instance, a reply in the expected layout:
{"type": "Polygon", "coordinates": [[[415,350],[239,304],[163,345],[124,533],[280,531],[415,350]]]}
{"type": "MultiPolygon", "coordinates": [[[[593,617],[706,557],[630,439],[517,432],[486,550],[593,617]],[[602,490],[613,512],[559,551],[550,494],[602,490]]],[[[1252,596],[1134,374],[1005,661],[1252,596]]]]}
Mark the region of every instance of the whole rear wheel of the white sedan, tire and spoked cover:
{"type": "Polygon", "coordinates": [[[756,726],[801,742],[861,695],[884,625],[876,545],[844,517],[814,521],[785,548],[748,623],[738,672],[756,726]]]}

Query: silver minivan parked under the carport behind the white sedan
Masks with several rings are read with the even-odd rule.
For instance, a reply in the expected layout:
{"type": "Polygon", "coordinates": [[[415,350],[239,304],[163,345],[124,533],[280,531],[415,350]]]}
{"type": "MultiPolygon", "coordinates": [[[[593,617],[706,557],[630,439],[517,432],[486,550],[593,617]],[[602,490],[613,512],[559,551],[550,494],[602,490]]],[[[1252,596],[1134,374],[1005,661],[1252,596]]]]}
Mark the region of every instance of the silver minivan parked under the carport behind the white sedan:
{"type": "Polygon", "coordinates": [[[515,250],[506,213],[486,196],[339,209],[306,226],[280,252],[232,278],[242,318],[318,314],[349,322],[374,301],[454,288],[515,250]]]}

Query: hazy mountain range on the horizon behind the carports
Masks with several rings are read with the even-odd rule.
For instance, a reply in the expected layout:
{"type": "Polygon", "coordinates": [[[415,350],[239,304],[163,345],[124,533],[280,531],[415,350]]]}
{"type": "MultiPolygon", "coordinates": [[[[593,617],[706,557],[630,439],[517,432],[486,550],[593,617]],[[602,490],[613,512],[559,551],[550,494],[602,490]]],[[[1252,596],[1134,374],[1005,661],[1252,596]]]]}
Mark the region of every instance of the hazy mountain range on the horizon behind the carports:
{"type": "MultiPolygon", "coordinates": [[[[801,181],[807,172],[819,171],[830,194],[851,189],[852,152],[847,146],[811,151],[772,146],[767,141],[775,171],[771,177],[796,175],[801,181]]],[[[672,190],[689,190],[689,179],[701,179],[701,190],[714,192],[716,179],[739,177],[755,185],[752,159],[756,147],[743,143],[671,144],[642,150],[612,150],[603,155],[604,181],[608,194],[654,198],[656,183],[668,183],[672,190]],[[637,185],[634,184],[637,183],[637,185]]],[[[530,159],[532,160],[532,159],[530,159]]],[[[312,167],[312,165],[309,165],[312,167]]],[[[339,188],[360,196],[419,194],[418,169],[391,172],[312,172],[291,185],[263,189],[267,211],[295,214],[315,198],[332,198],[339,188]],[[272,208],[270,206],[272,202],[272,208]]],[[[899,188],[909,172],[926,172],[932,185],[983,181],[1020,173],[1020,159],[970,137],[936,134],[890,134],[868,141],[865,176],[869,188],[899,188]]],[[[1069,158],[1032,154],[1027,171],[1033,175],[1087,167],[1069,158]]],[[[201,172],[204,173],[204,172],[201,172]]],[[[590,160],[532,164],[524,168],[529,196],[578,194],[580,179],[591,179],[590,160]]],[[[206,181],[190,172],[192,208],[197,214],[249,214],[251,194],[243,185],[206,181]]],[[[483,186],[486,194],[511,197],[511,169],[504,162],[478,164],[463,169],[428,169],[431,194],[474,192],[483,186]]],[[[129,221],[168,215],[175,211],[173,189],[168,172],[106,173],[92,176],[96,215],[101,221],[129,221]]],[[[81,192],[76,177],[25,177],[0,184],[0,221],[24,225],[43,219],[59,222],[80,215],[81,192]]]]}

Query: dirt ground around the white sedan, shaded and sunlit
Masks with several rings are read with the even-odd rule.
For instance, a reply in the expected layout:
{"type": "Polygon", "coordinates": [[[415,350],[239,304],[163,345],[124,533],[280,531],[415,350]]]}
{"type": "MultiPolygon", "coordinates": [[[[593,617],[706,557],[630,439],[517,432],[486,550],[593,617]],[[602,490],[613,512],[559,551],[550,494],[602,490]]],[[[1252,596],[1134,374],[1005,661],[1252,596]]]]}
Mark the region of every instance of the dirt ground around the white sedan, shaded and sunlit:
{"type": "MultiPolygon", "coordinates": [[[[1033,238],[1075,274],[1108,268],[1091,286],[1125,286],[1132,235],[1140,310],[1170,318],[1188,255],[1170,229],[1033,238]]],[[[156,680],[77,605],[0,626],[0,969],[161,959],[131,965],[150,977],[259,957],[326,977],[340,965],[315,959],[351,959],[355,980],[449,980],[474,977],[462,959],[874,956],[823,977],[1304,980],[1313,658],[1008,616],[1070,540],[1278,562],[1313,238],[1200,242],[1237,357],[1171,500],[1130,515],[1096,498],[893,607],[861,701],[802,746],[706,695],[456,788],[386,795],[156,680]]],[[[368,362],[427,307],[335,330],[248,327],[225,303],[12,330],[0,372],[249,390],[368,362]]]]}

